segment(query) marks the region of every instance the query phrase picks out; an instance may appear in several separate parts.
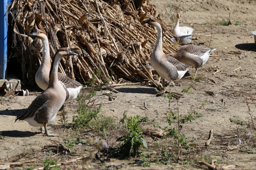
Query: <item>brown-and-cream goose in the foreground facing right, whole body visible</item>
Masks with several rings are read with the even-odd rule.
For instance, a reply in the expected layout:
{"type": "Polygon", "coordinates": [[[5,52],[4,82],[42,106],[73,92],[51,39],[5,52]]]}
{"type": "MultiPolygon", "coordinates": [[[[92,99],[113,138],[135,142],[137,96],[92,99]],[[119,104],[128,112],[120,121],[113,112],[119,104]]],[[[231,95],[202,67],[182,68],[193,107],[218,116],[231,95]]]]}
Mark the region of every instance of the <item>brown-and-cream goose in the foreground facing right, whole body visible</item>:
{"type": "MultiPolygon", "coordinates": [[[[56,136],[50,134],[46,128],[54,121],[57,111],[62,107],[66,99],[66,89],[58,80],[58,67],[62,57],[77,55],[70,48],[61,48],[55,53],[53,64],[50,71],[50,81],[48,88],[30,104],[30,106],[20,115],[17,120],[26,120],[29,125],[34,127],[45,127],[46,136],[56,136]]],[[[42,128],[41,128],[42,131],[42,128]]]]}

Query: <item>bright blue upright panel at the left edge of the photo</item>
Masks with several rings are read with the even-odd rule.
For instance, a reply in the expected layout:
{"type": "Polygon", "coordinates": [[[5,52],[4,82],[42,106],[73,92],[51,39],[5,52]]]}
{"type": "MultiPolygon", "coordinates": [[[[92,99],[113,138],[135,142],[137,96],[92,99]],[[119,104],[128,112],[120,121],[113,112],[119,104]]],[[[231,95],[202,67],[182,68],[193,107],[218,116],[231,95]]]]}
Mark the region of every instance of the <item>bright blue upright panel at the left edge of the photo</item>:
{"type": "Polygon", "coordinates": [[[8,18],[6,9],[11,0],[0,0],[0,79],[5,79],[7,67],[8,18]]]}

